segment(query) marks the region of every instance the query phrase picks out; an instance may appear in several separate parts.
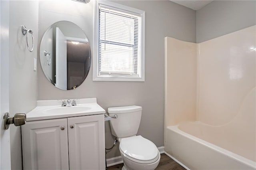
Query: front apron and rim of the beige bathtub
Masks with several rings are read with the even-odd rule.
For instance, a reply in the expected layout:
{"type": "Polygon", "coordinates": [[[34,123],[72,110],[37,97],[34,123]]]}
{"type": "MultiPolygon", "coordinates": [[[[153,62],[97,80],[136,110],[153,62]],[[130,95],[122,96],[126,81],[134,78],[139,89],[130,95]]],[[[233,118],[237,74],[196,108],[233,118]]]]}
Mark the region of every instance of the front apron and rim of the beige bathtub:
{"type": "Polygon", "coordinates": [[[255,162],[222,147],[206,142],[180,128],[187,125],[174,125],[166,128],[165,152],[191,170],[256,170],[255,162]],[[195,156],[196,155],[196,156],[195,156]]]}

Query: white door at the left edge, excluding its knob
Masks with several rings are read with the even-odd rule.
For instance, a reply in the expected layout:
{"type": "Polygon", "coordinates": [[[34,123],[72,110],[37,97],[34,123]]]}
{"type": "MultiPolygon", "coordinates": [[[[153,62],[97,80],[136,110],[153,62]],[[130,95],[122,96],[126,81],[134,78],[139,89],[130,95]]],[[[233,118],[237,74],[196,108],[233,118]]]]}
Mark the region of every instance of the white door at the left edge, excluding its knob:
{"type": "Polygon", "coordinates": [[[11,169],[10,129],[4,130],[3,117],[9,112],[9,2],[0,1],[0,169],[11,169]]]}

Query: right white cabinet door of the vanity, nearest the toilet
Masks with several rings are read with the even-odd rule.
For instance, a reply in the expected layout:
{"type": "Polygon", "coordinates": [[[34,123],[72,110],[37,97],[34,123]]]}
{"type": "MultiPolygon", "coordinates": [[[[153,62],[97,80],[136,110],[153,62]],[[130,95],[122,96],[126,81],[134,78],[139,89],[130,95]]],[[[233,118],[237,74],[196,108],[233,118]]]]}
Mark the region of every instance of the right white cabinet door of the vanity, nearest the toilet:
{"type": "Polygon", "coordinates": [[[68,118],[68,146],[70,170],[104,170],[104,115],[68,118]]]}

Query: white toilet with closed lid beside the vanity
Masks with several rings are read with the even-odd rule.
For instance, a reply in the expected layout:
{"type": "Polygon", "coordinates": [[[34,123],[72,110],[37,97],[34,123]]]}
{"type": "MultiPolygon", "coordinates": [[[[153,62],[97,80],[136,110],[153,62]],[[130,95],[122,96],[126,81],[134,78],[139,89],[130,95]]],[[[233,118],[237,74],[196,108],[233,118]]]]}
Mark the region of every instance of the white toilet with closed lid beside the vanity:
{"type": "Polygon", "coordinates": [[[142,107],[110,107],[108,113],[111,132],[120,142],[119,150],[124,160],[122,170],[154,170],[160,161],[156,145],[142,136],[136,136],[140,126],[142,107]]]}

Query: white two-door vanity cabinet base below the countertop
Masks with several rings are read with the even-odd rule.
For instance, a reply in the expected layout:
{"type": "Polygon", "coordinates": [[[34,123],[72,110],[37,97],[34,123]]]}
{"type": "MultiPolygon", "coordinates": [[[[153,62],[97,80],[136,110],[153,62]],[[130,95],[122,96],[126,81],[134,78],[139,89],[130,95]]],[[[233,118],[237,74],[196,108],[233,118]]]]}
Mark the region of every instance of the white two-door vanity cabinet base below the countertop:
{"type": "Polygon", "coordinates": [[[104,170],[104,114],[22,126],[24,170],[104,170]]]}

